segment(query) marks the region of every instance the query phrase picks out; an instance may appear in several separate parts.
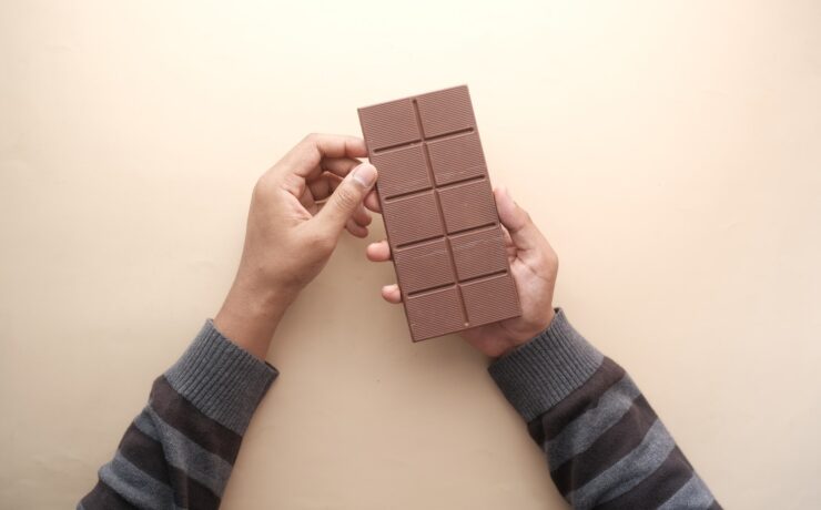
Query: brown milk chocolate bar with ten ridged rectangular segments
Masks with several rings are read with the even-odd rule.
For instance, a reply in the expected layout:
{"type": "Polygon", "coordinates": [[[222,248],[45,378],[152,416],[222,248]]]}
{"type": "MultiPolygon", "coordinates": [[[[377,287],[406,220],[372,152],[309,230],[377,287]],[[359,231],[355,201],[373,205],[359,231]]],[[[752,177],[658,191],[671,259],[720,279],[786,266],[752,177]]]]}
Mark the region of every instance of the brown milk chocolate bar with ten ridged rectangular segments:
{"type": "Polygon", "coordinates": [[[520,315],[467,86],[359,109],[414,341],[520,315]]]}

